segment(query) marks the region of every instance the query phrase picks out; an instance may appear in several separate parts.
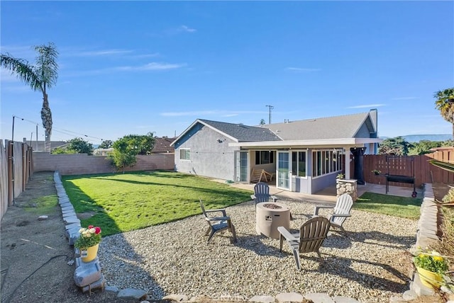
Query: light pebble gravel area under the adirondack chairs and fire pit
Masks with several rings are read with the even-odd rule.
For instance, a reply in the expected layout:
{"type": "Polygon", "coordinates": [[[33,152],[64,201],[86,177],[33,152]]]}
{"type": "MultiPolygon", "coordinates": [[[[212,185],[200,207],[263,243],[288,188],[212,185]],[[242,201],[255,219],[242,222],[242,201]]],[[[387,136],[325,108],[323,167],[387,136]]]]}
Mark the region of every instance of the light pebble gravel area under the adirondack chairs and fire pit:
{"type": "MultiPolygon", "coordinates": [[[[311,202],[279,202],[291,208],[294,230],[314,210],[311,202]]],[[[344,223],[350,239],[330,231],[321,248],[324,262],[316,253],[302,254],[297,270],[287,246],[279,253],[279,240],[256,234],[253,202],[228,207],[227,215],[236,227],[236,244],[228,231],[206,244],[208,225],[201,215],[104,237],[99,259],[107,284],[147,290],[153,299],[326,292],[389,302],[409,289],[406,250],[416,242],[415,220],[353,210],[344,223]]]]}

